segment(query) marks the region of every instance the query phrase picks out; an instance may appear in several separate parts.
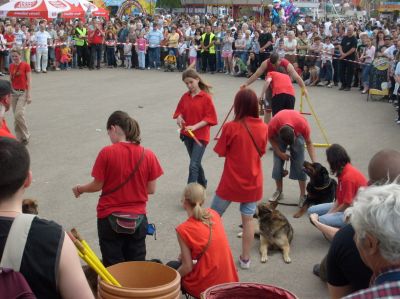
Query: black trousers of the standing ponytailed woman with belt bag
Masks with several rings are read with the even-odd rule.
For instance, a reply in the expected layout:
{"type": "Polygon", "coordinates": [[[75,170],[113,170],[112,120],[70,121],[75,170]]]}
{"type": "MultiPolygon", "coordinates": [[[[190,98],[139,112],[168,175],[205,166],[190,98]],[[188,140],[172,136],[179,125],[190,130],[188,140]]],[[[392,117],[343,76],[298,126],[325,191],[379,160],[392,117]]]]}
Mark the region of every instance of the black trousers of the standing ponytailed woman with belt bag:
{"type": "Polygon", "coordinates": [[[116,233],[108,218],[97,219],[100,251],[104,266],[127,261],[144,261],[146,258],[147,217],[134,234],[116,233]]]}

